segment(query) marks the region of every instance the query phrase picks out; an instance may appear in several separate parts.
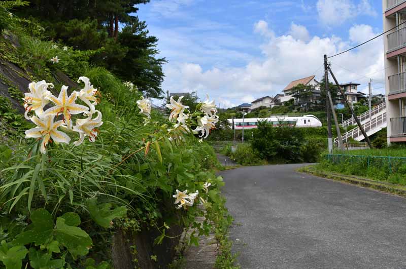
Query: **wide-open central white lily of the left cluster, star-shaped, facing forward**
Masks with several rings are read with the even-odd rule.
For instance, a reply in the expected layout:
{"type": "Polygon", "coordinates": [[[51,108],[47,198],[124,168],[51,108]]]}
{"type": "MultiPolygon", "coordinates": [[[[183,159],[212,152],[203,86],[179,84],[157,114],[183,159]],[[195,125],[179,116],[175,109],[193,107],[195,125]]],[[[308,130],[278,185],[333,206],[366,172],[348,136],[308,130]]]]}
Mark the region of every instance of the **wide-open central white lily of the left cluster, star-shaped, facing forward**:
{"type": "Polygon", "coordinates": [[[56,98],[54,95],[47,97],[55,106],[48,108],[44,111],[45,116],[54,115],[58,116],[63,114],[63,122],[66,123],[67,128],[72,129],[72,115],[87,113],[89,108],[84,105],[76,104],[78,92],[74,91],[69,97],[67,96],[67,86],[62,86],[59,96],[56,98]]]}

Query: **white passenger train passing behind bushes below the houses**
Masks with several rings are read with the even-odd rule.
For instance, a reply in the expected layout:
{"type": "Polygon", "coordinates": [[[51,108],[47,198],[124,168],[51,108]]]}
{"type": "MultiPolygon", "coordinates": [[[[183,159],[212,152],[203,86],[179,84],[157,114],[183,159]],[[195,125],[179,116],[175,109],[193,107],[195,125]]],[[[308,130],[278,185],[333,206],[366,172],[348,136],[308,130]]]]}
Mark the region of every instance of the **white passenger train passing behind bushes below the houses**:
{"type": "MultiPolygon", "coordinates": [[[[228,123],[232,126],[232,119],[227,120],[228,123]]],[[[267,121],[272,123],[273,126],[279,126],[281,122],[284,124],[289,124],[295,127],[321,127],[322,124],[316,116],[313,115],[306,115],[302,117],[286,117],[286,116],[278,116],[272,118],[253,118],[253,119],[234,119],[234,128],[236,130],[239,129],[254,129],[257,128],[259,121],[267,121]]]]}

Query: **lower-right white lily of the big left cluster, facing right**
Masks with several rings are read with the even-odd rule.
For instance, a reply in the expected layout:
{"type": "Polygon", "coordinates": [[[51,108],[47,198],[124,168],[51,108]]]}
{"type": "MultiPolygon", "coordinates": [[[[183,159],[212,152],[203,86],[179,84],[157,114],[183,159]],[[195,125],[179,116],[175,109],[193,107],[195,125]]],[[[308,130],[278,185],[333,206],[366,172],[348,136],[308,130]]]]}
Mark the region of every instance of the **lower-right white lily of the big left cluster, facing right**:
{"type": "Polygon", "coordinates": [[[73,127],[73,131],[79,133],[79,140],[73,142],[75,146],[78,146],[83,143],[83,140],[86,136],[89,137],[90,142],[94,142],[97,137],[97,127],[101,126],[103,122],[101,121],[101,112],[96,110],[97,117],[92,119],[92,114],[89,113],[89,116],[86,119],[77,119],[76,125],[73,127]]]}

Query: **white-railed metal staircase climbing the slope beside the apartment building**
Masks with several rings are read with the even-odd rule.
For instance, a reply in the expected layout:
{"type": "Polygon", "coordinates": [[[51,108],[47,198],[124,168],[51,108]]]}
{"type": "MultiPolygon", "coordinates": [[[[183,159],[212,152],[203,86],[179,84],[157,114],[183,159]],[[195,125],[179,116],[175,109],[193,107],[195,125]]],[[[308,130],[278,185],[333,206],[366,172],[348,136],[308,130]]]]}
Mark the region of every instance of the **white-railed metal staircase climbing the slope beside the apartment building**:
{"type": "MultiPolygon", "coordinates": [[[[364,128],[366,135],[370,136],[375,134],[376,132],[381,131],[383,128],[386,127],[387,122],[386,122],[386,102],[381,103],[380,105],[360,114],[360,116],[357,117],[359,121],[361,122],[362,127],[364,128]],[[370,118],[369,118],[369,112],[370,112],[370,118]]],[[[355,119],[351,118],[345,122],[343,122],[341,125],[343,127],[347,127],[350,125],[356,125],[355,119]]],[[[348,139],[353,138],[356,141],[361,141],[365,137],[361,133],[361,130],[357,127],[354,128],[347,133],[344,133],[343,135],[343,141],[348,141],[348,139]]],[[[339,144],[339,138],[336,137],[334,139],[335,145],[339,144]]]]}

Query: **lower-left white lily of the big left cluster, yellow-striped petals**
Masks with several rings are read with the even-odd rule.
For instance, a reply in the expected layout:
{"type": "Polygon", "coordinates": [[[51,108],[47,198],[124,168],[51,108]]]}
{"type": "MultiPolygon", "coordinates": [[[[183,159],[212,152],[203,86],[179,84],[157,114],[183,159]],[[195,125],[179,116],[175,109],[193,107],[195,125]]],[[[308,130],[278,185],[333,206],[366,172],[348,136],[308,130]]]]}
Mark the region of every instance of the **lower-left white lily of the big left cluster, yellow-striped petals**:
{"type": "Polygon", "coordinates": [[[37,125],[37,127],[29,129],[25,131],[25,137],[29,138],[39,138],[43,137],[41,142],[41,152],[44,153],[46,151],[46,146],[50,141],[50,138],[57,143],[66,143],[68,144],[71,141],[71,138],[61,132],[58,131],[57,128],[63,125],[63,121],[57,121],[54,123],[55,116],[46,116],[42,119],[33,116],[31,121],[37,125]]]}

